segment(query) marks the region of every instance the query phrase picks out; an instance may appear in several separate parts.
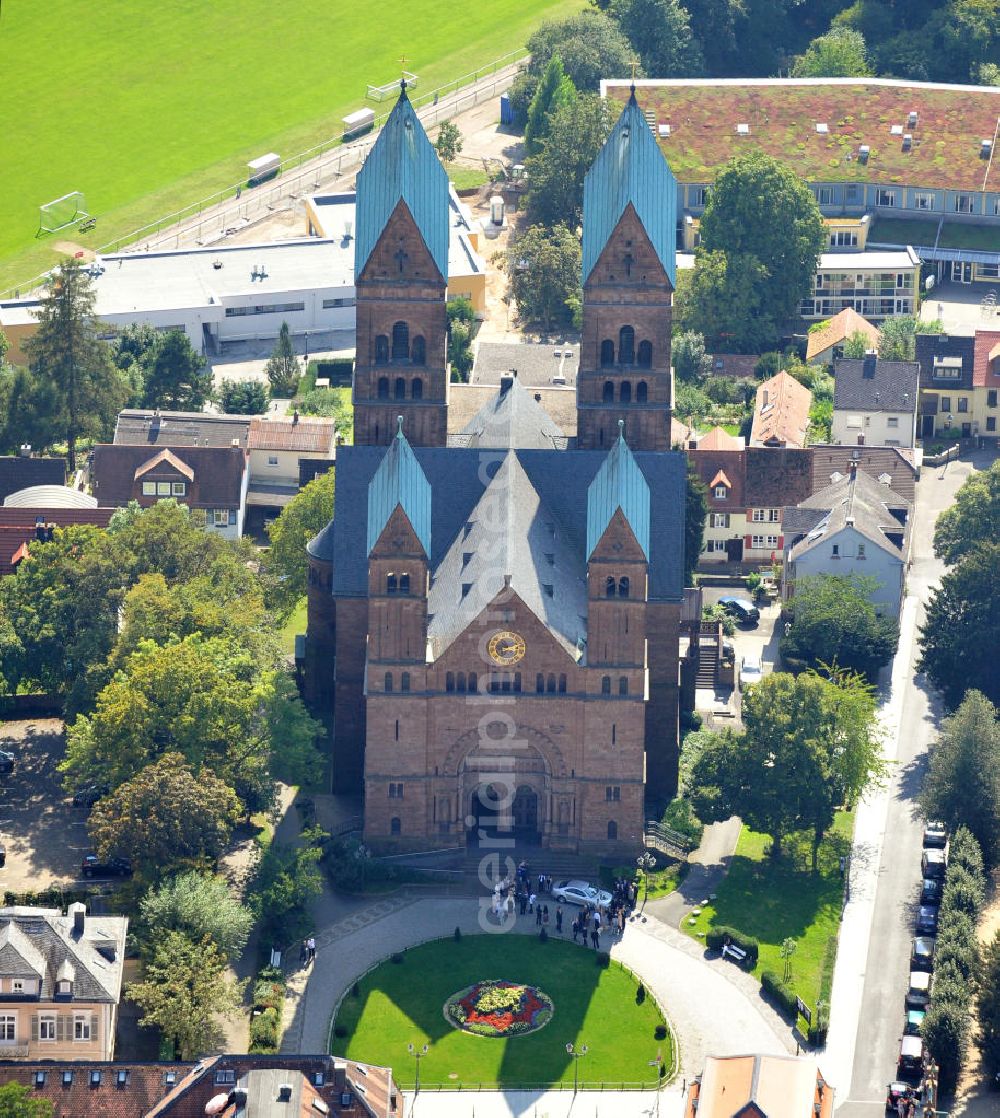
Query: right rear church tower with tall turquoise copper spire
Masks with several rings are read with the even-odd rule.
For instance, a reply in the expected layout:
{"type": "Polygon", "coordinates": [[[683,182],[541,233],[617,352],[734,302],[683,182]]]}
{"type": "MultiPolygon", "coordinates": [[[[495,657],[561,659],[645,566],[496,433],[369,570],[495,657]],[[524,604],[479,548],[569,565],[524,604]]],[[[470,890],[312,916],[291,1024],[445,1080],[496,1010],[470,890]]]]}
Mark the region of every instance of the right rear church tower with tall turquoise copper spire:
{"type": "Polygon", "coordinates": [[[577,446],[670,449],[677,180],[635,101],[584,183],[577,446]]]}

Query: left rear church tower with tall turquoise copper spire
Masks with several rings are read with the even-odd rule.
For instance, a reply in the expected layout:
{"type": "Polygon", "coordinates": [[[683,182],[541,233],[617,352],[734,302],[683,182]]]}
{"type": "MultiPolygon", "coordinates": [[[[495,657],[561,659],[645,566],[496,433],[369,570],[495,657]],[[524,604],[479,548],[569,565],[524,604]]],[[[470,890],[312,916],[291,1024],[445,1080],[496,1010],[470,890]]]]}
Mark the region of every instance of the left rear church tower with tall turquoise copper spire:
{"type": "Polygon", "coordinates": [[[447,174],[406,95],[358,174],[355,443],[447,440],[447,174]]]}

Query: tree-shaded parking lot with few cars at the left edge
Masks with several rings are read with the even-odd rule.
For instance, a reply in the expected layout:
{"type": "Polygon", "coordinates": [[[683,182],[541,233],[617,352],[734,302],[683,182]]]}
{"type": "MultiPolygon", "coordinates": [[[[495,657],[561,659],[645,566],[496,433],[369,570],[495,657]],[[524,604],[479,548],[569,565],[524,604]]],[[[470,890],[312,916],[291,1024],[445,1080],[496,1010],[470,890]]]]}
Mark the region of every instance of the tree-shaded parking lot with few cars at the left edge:
{"type": "Polygon", "coordinates": [[[0,738],[0,749],[16,758],[0,784],[0,843],[7,847],[0,889],[25,892],[76,881],[89,843],[86,812],[73,807],[56,770],[65,752],[62,721],[3,722],[0,738]]]}

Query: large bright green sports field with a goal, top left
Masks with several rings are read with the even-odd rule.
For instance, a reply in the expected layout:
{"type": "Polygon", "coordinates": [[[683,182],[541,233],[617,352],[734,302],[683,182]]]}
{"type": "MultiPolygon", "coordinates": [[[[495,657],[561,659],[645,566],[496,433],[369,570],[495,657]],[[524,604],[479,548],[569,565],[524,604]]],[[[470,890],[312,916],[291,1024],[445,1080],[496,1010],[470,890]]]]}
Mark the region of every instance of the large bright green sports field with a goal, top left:
{"type": "MultiPolygon", "coordinates": [[[[0,7],[0,291],[50,266],[38,207],[70,190],[102,245],[292,155],[406,69],[426,92],[582,0],[7,0],[0,7]]],[[[381,108],[388,107],[383,103],[381,108]]],[[[76,237],[72,229],[63,236],[76,237]]]]}

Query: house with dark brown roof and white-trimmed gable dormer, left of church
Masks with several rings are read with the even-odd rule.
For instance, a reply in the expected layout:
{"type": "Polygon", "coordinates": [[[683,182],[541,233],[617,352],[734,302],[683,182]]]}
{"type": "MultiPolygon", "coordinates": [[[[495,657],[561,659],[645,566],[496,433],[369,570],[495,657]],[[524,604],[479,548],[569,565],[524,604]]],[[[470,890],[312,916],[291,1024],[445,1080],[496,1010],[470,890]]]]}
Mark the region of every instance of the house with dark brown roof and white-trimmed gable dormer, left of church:
{"type": "Polygon", "coordinates": [[[249,481],[242,446],[94,447],[93,490],[102,505],[149,508],[173,498],[205,513],[206,528],[226,539],[243,534],[249,481]]]}

